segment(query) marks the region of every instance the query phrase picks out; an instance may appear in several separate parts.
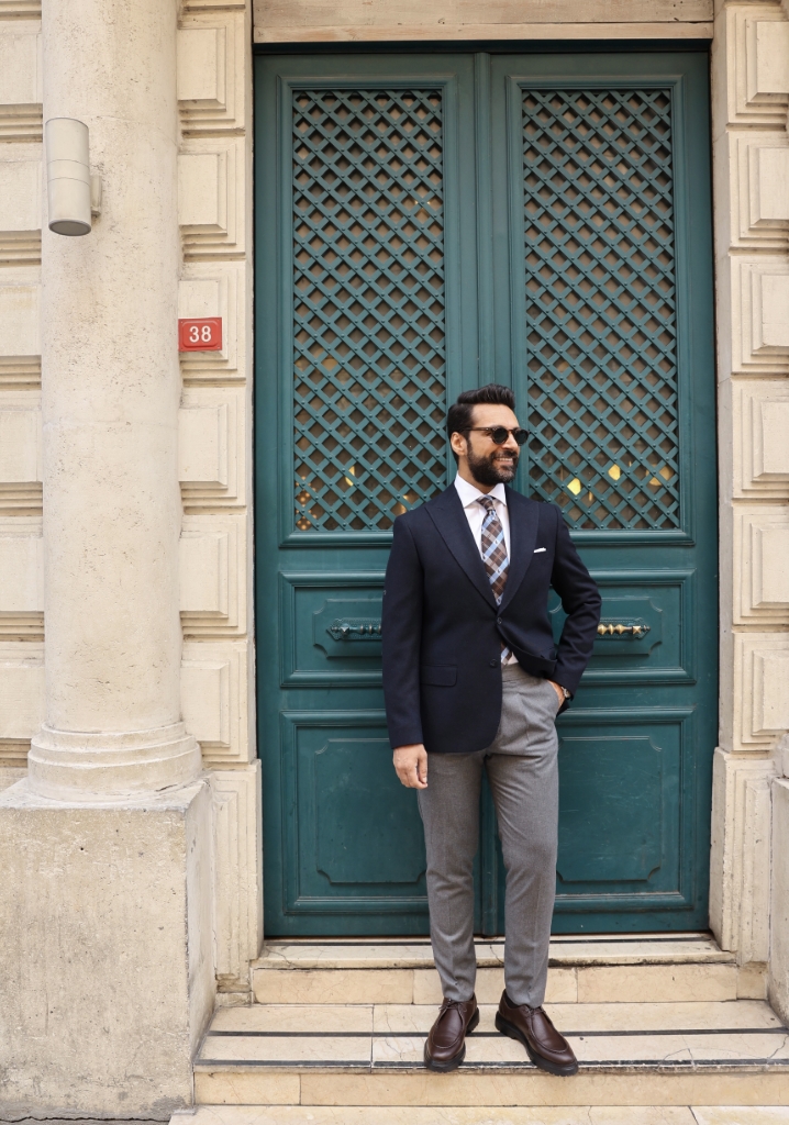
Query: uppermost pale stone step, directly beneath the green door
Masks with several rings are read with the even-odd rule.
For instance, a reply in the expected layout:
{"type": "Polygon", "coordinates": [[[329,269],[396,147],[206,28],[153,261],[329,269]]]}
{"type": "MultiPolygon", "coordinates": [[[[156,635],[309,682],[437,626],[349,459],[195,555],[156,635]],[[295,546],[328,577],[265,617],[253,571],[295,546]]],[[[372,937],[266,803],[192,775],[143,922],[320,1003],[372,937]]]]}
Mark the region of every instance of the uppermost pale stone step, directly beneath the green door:
{"type": "MultiPolygon", "coordinates": [[[[476,943],[477,999],[504,988],[503,940],[476,943]]],[[[270,942],[252,963],[259,1004],[440,1004],[430,943],[412,939],[270,942]]],[[[708,934],[557,937],[547,998],[554,1004],[762,999],[761,973],[739,971],[708,934]]]]}

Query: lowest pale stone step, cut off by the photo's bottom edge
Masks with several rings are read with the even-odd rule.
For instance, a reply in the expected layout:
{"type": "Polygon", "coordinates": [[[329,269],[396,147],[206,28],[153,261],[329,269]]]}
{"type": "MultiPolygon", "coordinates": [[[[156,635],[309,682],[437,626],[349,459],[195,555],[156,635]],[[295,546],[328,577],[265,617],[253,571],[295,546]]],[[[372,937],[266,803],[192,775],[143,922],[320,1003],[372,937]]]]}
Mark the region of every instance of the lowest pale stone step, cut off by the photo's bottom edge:
{"type": "Polygon", "coordinates": [[[171,1125],[789,1125],[789,1107],[199,1106],[171,1125]]]}

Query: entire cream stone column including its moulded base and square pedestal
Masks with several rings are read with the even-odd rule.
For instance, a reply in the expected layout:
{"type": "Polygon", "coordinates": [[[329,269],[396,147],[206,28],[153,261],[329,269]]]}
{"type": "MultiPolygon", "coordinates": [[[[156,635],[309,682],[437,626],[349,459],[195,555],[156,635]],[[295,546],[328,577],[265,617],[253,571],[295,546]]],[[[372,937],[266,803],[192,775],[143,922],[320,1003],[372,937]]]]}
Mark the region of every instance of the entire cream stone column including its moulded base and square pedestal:
{"type": "Polygon", "coordinates": [[[177,0],[47,0],[44,117],[102,214],[43,234],[46,719],[0,794],[0,1118],[167,1119],[214,1000],[180,720],[177,0]]]}

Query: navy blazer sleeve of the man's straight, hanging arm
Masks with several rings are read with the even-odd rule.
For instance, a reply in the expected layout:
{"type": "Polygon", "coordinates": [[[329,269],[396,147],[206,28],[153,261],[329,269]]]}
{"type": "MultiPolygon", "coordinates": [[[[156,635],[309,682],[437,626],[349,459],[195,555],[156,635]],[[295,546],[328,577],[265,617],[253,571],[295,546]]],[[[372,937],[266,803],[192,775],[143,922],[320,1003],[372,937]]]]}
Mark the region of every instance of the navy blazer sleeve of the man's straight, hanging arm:
{"type": "Polygon", "coordinates": [[[393,749],[423,740],[419,688],[423,597],[422,564],[411,530],[401,516],[394,522],[380,630],[384,701],[393,749]]]}

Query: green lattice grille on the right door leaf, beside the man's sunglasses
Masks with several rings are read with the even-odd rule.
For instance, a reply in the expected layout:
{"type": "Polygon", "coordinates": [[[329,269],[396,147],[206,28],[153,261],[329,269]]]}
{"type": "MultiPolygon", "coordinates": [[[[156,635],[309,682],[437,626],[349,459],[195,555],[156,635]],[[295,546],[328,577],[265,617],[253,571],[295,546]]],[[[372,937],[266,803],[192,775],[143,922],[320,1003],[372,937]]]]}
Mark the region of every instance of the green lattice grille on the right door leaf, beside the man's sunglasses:
{"type": "Polygon", "coordinates": [[[671,98],[527,90],[522,128],[532,494],[676,528],[671,98]]]}

